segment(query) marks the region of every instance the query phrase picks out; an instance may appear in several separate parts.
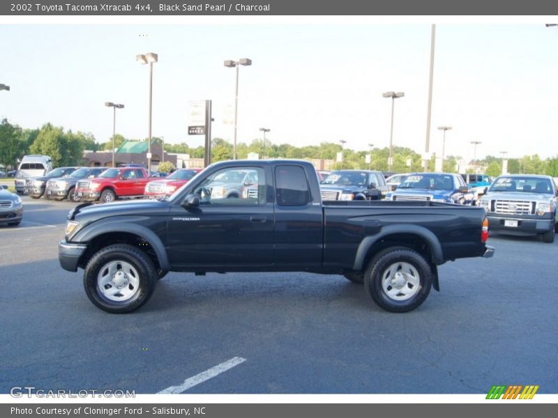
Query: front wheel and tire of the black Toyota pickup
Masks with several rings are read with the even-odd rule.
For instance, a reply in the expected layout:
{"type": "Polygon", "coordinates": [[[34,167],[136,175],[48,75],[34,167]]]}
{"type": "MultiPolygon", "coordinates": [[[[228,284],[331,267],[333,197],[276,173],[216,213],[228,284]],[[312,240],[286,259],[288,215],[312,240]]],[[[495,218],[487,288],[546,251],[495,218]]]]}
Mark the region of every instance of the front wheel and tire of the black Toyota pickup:
{"type": "Polygon", "coordinates": [[[151,258],[140,249],[128,244],[110,245],[93,254],[93,257],[91,257],[86,265],[83,284],[87,297],[96,307],[112,314],[125,314],[139,309],[149,300],[157,284],[157,269],[153,265],[151,258]],[[116,285],[116,274],[107,274],[110,265],[118,265],[118,263],[129,265],[132,269],[116,268],[116,274],[120,272],[125,272],[124,276],[126,276],[126,272],[129,274],[129,283],[125,281],[122,284],[122,292],[119,290],[119,286],[116,285]],[[105,284],[105,286],[110,287],[103,286],[106,293],[101,290],[99,284],[103,277],[103,270],[105,277],[112,277],[112,281],[105,284]],[[133,281],[135,281],[137,286],[130,288],[133,281]],[[115,300],[120,297],[118,293],[112,295],[113,299],[107,295],[113,288],[116,292],[123,295],[123,300],[115,300]],[[132,295],[126,297],[124,292],[131,293],[132,295]]]}

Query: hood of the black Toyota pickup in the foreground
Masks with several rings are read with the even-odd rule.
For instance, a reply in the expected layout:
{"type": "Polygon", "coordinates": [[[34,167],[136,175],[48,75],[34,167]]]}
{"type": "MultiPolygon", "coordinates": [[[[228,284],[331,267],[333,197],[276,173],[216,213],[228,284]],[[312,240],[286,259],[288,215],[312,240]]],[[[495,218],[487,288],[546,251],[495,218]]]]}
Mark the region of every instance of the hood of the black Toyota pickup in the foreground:
{"type": "Polygon", "coordinates": [[[68,213],[68,219],[92,217],[95,220],[105,217],[144,215],[155,212],[165,212],[170,208],[169,201],[135,199],[130,201],[118,201],[112,203],[83,203],[76,206],[68,213]]]}

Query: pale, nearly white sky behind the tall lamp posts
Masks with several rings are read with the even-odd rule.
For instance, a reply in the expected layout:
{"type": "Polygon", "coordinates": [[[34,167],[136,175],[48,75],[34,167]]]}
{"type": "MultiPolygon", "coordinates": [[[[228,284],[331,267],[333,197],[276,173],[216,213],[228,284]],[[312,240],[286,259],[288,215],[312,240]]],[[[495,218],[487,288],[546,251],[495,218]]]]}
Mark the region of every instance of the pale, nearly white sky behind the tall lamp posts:
{"type": "MultiPolygon", "coordinates": [[[[66,22],[71,22],[66,20],[66,22]]],[[[160,21],[159,21],[160,22],[160,21]]],[[[163,21],[164,22],[164,21],[163,21]]],[[[153,136],[203,144],[188,136],[188,103],[212,100],[213,137],[233,139],[235,70],[225,59],[252,59],[239,72],[238,141],[271,131],[274,144],[347,141],[368,150],[393,145],[423,153],[426,138],[429,23],[287,22],[259,24],[7,24],[0,22],[0,117],[25,128],[50,122],[91,132],[145,138],[149,67],[156,52],[153,136]]],[[[437,23],[430,151],[477,157],[558,153],[558,26],[543,23],[437,23]]]]}

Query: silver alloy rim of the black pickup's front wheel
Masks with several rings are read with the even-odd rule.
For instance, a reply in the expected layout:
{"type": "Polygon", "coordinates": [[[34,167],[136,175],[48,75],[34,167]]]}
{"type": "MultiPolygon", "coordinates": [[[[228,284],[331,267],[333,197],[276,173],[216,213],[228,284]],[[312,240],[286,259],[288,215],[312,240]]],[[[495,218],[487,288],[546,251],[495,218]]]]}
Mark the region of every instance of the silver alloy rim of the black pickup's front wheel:
{"type": "Polygon", "coordinates": [[[140,277],[130,263],[110,261],[97,275],[100,295],[107,300],[124,302],[132,299],[140,289],[140,277]]]}

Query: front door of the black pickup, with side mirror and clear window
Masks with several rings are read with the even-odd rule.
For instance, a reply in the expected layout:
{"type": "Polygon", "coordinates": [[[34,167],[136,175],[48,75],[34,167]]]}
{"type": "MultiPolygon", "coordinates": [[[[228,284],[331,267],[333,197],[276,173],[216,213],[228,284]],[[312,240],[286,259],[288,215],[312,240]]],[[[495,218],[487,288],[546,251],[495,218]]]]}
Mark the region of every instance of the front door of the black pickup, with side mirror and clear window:
{"type": "Polygon", "coordinates": [[[167,254],[171,265],[202,271],[271,265],[273,200],[266,196],[267,187],[261,167],[235,166],[209,174],[193,189],[201,198],[197,208],[186,209],[177,203],[169,212],[167,254]],[[250,178],[243,180],[238,193],[229,193],[239,187],[236,177],[243,170],[250,172],[250,178]]]}

